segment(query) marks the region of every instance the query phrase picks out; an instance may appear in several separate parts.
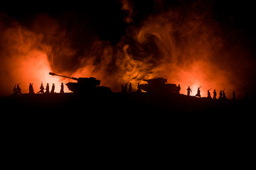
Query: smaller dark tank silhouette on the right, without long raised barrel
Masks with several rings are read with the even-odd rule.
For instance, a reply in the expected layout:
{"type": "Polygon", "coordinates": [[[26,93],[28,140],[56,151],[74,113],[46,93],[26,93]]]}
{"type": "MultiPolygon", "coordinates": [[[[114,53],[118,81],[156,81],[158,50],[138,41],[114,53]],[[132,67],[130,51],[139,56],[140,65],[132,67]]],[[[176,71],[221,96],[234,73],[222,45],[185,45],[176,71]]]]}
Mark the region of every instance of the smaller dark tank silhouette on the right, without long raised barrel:
{"type": "Polygon", "coordinates": [[[167,79],[162,77],[156,79],[143,79],[147,84],[140,84],[143,91],[148,94],[178,94],[178,86],[176,84],[166,84],[167,79]]]}

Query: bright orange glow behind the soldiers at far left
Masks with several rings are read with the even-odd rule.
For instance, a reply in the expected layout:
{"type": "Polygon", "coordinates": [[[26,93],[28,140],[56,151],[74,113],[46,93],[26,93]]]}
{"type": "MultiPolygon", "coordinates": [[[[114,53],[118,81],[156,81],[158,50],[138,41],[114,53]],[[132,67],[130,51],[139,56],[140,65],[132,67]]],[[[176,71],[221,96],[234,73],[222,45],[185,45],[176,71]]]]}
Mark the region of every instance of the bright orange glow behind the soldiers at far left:
{"type": "MultiPolygon", "coordinates": [[[[37,94],[41,82],[45,89],[47,83],[50,89],[55,84],[55,92],[60,92],[61,82],[65,83],[68,80],[48,74],[52,72],[48,60],[51,47],[42,42],[42,34],[36,34],[14,23],[13,27],[1,32],[1,39],[5,42],[5,48],[1,51],[1,96],[12,94],[14,85],[19,83],[22,94],[28,93],[30,83],[37,94]]],[[[67,86],[64,86],[64,91],[70,92],[67,86]]]]}

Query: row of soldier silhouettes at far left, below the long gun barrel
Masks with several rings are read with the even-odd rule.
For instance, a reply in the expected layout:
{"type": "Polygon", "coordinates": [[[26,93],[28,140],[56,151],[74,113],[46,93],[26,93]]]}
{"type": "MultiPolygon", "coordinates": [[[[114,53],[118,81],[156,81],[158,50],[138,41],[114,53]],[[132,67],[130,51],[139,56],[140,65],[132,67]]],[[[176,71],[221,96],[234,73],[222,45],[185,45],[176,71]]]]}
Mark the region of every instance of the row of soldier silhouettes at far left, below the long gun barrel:
{"type": "MultiPolygon", "coordinates": [[[[21,84],[21,83],[19,83],[19,84],[21,84]]],[[[16,86],[16,84],[15,84],[15,86],[14,86],[14,94],[21,94],[21,88],[20,88],[20,86],[19,86],[19,84],[17,84],[17,86],[16,86]]],[[[40,86],[40,91],[38,91],[37,93],[38,94],[54,94],[55,92],[55,84],[53,84],[53,86],[52,86],[52,89],[50,90],[50,86],[49,86],[49,84],[47,84],[46,85],[46,91],[44,91],[45,89],[44,89],[44,87],[43,87],[43,82],[41,83],[41,86],[40,86]]],[[[29,94],[35,94],[35,92],[34,92],[34,90],[33,90],[33,83],[31,84],[29,84],[29,87],[28,87],[28,93],[29,94]]],[[[61,85],[60,85],[60,94],[63,94],[64,93],[64,85],[63,85],[63,83],[61,83],[61,85]]]]}

